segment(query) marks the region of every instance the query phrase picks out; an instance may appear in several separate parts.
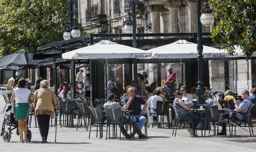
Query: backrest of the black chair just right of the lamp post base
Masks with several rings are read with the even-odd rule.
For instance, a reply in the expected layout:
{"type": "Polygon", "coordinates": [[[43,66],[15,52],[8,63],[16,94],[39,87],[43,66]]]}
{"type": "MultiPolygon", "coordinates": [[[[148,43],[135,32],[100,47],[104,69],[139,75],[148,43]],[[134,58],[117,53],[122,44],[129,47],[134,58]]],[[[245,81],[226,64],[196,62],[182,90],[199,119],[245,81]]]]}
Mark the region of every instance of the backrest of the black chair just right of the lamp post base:
{"type": "Polygon", "coordinates": [[[205,109],[206,120],[217,122],[219,120],[219,108],[218,105],[214,106],[205,106],[203,105],[203,109],[205,109]]]}

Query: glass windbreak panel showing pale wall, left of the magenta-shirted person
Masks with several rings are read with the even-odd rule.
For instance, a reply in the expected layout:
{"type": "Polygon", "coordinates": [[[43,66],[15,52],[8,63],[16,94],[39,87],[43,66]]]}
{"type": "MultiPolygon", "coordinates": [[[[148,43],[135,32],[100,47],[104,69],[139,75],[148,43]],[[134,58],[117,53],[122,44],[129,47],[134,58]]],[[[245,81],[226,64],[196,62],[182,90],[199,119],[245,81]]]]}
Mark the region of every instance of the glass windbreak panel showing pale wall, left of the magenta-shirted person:
{"type": "Polygon", "coordinates": [[[157,64],[137,64],[138,73],[144,76],[146,84],[155,82],[157,84],[157,64]]]}

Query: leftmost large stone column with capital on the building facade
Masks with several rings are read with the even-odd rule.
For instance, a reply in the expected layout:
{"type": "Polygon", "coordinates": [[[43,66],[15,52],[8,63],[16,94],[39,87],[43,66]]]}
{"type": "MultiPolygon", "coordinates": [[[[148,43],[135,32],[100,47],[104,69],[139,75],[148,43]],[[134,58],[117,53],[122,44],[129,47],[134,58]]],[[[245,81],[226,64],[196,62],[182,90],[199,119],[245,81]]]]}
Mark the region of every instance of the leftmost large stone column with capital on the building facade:
{"type": "MultiPolygon", "coordinates": [[[[164,10],[162,5],[147,6],[151,13],[152,33],[160,33],[160,12],[164,10]]],[[[160,36],[154,36],[153,39],[159,39],[160,36]]]]}

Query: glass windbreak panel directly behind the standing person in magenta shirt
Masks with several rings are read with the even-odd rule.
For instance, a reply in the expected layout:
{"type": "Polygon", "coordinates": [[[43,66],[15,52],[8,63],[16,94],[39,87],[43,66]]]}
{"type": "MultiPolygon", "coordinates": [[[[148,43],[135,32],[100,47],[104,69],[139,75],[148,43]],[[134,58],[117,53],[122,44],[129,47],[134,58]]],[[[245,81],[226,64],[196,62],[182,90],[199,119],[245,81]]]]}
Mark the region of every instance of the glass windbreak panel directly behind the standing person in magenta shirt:
{"type": "Polygon", "coordinates": [[[181,63],[162,63],[161,64],[161,85],[164,86],[164,82],[167,80],[167,77],[169,75],[168,69],[172,68],[172,72],[176,76],[176,82],[174,86],[174,91],[176,89],[180,88],[183,85],[185,85],[185,64],[181,63]],[[183,65],[183,79],[182,79],[182,73],[181,73],[181,66],[183,65]],[[183,80],[183,83],[182,83],[183,80]]]}

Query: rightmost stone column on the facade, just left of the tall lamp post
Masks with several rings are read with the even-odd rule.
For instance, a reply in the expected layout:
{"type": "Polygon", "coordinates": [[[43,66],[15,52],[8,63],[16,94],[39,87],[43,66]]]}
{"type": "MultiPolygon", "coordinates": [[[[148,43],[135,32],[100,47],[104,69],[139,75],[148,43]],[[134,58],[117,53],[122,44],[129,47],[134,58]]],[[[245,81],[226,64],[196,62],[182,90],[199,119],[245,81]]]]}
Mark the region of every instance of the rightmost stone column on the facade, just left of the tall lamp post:
{"type": "Polygon", "coordinates": [[[197,0],[188,0],[188,32],[197,32],[197,0]]]}

